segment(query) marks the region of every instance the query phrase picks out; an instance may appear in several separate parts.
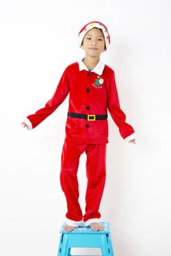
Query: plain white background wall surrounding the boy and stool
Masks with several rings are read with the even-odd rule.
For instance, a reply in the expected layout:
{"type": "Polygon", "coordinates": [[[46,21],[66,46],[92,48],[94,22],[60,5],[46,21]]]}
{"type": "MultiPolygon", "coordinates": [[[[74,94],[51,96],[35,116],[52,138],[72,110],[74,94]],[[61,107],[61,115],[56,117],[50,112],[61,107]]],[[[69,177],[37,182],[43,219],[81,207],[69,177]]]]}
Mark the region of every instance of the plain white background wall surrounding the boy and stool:
{"type": "MultiPolygon", "coordinates": [[[[1,1],[0,255],[57,255],[66,202],[59,184],[68,97],[39,127],[23,118],[42,108],[65,67],[84,55],[77,34],[104,23],[120,104],[137,143],[109,116],[107,180],[100,206],[115,256],[170,256],[170,1],[1,1]]],[[[85,207],[86,154],[80,157],[85,207]]],[[[78,254],[78,253],[77,253],[78,254]]]]}

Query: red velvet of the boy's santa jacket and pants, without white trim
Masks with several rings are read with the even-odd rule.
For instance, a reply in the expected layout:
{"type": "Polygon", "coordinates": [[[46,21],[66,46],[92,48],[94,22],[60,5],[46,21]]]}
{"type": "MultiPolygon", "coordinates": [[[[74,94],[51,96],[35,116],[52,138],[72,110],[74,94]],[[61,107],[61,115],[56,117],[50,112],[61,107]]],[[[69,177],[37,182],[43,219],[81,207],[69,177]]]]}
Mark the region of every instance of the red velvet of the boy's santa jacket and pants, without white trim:
{"type": "MultiPolygon", "coordinates": [[[[98,75],[86,69],[80,71],[77,62],[66,67],[53,97],[45,104],[45,107],[27,116],[32,127],[37,127],[53,113],[64,102],[68,94],[69,112],[105,115],[108,110],[123,139],[134,133],[133,127],[126,123],[126,115],[119,104],[114,70],[105,65],[102,75],[98,75]]],[[[100,218],[99,206],[106,177],[107,119],[88,121],[82,118],[67,117],[65,130],[60,181],[66,196],[66,218],[74,221],[80,221],[83,218],[85,222],[88,219],[100,218]],[[83,152],[87,155],[86,176],[88,178],[84,215],[78,202],[77,181],[77,168],[83,152]]]]}

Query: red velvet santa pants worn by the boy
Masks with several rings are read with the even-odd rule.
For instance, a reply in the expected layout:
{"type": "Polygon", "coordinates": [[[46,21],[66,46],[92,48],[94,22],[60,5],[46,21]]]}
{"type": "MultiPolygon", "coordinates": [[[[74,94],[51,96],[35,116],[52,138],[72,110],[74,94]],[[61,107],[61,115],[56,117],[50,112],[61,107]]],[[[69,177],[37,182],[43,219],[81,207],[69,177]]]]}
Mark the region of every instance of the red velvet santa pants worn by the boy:
{"type": "Polygon", "coordinates": [[[107,144],[79,144],[64,141],[61,154],[60,182],[63,190],[67,212],[66,218],[73,221],[100,218],[99,205],[104,191],[106,178],[106,145],[107,144]],[[86,213],[83,216],[78,202],[79,189],[77,169],[80,155],[86,152],[86,213]]]}

